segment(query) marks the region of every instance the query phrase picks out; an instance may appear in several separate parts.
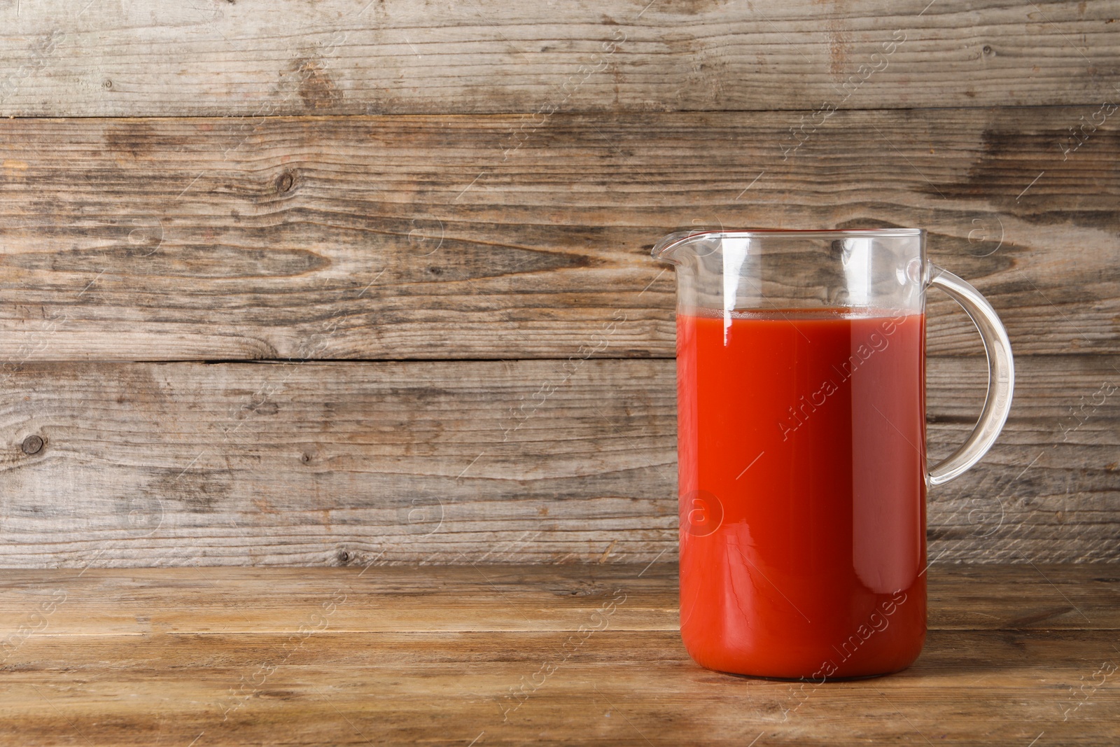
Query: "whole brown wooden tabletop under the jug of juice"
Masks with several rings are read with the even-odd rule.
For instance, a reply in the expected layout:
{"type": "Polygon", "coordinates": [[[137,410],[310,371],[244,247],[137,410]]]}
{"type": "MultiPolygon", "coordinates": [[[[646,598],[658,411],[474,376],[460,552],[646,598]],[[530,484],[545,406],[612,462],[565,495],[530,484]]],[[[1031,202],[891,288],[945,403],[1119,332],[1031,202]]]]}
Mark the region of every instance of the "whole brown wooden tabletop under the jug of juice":
{"type": "Polygon", "coordinates": [[[692,663],[669,564],[3,579],[4,745],[1120,744],[1117,566],[934,566],[917,663],[819,687],[692,663]]]}

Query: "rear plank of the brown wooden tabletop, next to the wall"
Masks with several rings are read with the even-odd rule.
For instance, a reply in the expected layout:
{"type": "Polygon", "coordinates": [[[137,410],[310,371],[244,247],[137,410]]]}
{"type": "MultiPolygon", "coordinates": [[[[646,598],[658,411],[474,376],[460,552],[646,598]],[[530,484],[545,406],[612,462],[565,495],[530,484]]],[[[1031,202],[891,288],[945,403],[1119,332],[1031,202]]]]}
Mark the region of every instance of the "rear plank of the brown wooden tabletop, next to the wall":
{"type": "MultiPolygon", "coordinates": [[[[928,626],[1120,629],[1118,571],[1100,563],[934,563],[928,626]]],[[[610,629],[679,628],[676,567],[668,562],[6,569],[0,639],[41,614],[44,601],[57,603],[36,632],[48,635],[279,635],[292,619],[319,611],[336,590],[347,599],[330,616],[333,633],[573,631],[619,586],[626,601],[612,615],[610,629]]]]}

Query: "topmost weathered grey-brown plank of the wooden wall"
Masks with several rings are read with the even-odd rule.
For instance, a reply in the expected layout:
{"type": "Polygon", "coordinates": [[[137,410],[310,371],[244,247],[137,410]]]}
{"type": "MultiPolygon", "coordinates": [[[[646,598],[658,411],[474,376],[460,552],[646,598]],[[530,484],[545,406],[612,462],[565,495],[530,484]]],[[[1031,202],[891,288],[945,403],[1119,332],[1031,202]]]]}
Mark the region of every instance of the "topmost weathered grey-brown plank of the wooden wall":
{"type": "Polygon", "coordinates": [[[1112,0],[6,2],[0,114],[1091,104],[1114,95],[1118,16],[1112,0]]]}

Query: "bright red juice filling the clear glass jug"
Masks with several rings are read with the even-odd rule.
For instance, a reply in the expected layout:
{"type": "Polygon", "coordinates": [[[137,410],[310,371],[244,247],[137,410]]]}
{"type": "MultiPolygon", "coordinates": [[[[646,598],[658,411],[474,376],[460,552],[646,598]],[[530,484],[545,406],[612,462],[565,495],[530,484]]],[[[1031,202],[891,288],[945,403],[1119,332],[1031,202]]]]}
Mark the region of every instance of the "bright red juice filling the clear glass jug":
{"type": "Polygon", "coordinates": [[[824,679],[925,639],[925,317],[678,316],[681,636],[824,679]]]}

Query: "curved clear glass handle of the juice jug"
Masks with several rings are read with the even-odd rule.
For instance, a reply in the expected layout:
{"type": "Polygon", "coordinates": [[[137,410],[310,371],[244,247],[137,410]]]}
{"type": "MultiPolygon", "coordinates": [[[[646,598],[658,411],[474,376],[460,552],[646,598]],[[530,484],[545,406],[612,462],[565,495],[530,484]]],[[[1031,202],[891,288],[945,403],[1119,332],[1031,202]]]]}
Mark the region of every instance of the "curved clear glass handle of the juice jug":
{"type": "Polygon", "coordinates": [[[930,263],[928,284],[940,288],[961,305],[976,324],[988,356],[988,395],[976,428],[968,440],[948,458],[942,459],[926,475],[927,485],[943,485],[960,477],[980,461],[1007,422],[1011,411],[1011,395],[1015,391],[1015,360],[1011,357],[1011,342],[999,320],[996,309],[980,292],[952,272],[930,263]]]}

